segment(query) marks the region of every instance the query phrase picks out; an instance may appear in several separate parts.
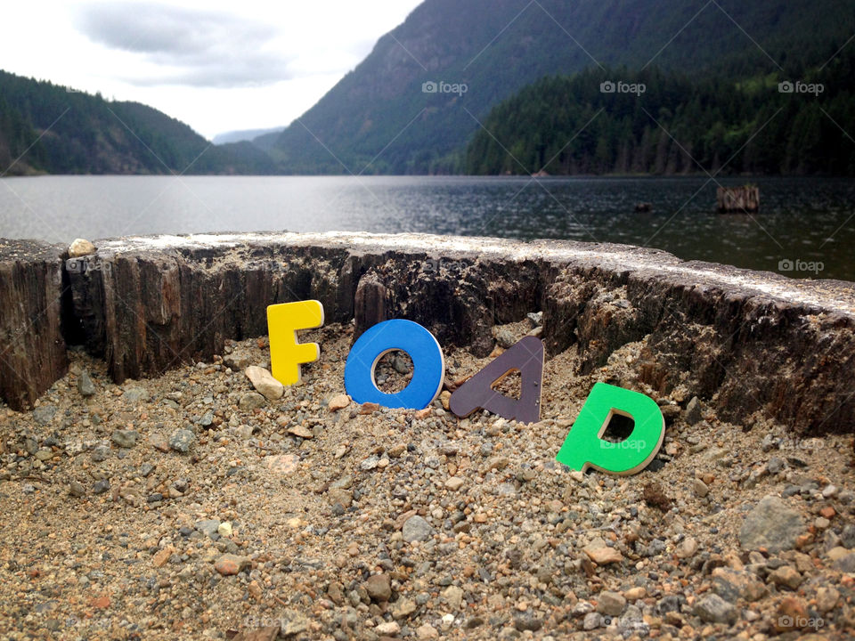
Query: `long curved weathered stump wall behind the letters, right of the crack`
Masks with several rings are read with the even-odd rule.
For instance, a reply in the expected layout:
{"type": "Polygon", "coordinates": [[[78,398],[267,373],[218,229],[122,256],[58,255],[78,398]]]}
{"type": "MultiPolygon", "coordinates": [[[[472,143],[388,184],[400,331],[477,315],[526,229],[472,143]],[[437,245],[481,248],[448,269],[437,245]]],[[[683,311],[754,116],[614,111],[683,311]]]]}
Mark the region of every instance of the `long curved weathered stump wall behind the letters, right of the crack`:
{"type": "Polygon", "coordinates": [[[855,286],[791,280],[653,249],[428,235],[222,234],[104,240],[69,273],[77,342],[117,381],[222,353],[266,333],[265,307],[307,298],[358,336],[408,318],[478,356],[494,325],[543,311],[550,355],[579,374],[644,341],[634,378],[684,385],[723,418],[855,430],[855,286]]]}

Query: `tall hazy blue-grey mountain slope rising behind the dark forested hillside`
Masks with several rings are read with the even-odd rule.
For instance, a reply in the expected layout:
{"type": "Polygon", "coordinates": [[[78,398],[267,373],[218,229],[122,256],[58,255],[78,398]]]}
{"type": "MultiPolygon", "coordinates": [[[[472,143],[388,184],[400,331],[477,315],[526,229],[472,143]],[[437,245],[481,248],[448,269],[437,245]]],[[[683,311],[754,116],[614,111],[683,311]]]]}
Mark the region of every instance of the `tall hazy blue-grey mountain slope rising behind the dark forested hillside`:
{"type": "Polygon", "coordinates": [[[479,121],[542,77],[655,65],[778,82],[853,32],[855,4],[834,0],[426,0],[311,110],[254,143],[287,173],[458,172],[479,121]]]}

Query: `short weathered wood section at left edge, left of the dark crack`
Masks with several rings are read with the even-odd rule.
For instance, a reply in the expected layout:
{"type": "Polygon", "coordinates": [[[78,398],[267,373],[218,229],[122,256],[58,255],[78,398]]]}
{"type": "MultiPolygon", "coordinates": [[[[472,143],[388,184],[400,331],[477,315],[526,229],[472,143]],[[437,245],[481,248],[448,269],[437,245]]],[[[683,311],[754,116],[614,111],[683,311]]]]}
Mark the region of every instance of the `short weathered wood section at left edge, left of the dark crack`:
{"type": "Polygon", "coordinates": [[[15,410],[68,370],[61,247],[0,239],[0,397],[15,410]]]}

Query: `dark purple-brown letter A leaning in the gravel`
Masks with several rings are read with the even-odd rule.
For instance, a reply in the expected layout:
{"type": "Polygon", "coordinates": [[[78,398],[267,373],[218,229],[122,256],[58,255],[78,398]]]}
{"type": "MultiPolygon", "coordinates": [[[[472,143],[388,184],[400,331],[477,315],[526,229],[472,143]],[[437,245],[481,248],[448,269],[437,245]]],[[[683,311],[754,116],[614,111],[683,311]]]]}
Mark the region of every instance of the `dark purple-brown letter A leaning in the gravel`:
{"type": "Polygon", "coordinates": [[[460,385],[448,407],[460,418],[484,409],[508,420],[536,423],[541,418],[542,387],[543,343],[540,338],[525,337],[460,385]],[[497,381],[514,370],[522,379],[518,401],[493,389],[497,381]]]}

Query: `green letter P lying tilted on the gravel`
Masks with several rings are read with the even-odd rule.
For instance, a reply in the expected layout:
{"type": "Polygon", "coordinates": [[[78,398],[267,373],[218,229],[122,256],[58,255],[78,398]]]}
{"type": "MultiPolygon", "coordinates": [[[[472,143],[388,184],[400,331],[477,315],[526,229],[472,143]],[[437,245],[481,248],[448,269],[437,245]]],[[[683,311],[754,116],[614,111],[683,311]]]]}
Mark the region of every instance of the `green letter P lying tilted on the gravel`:
{"type": "Polygon", "coordinates": [[[631,475],[653,460],[664,435],[665,419],[652,398],[623,387],[597,383],[558,450],[556,460],[582,472],[590,466],[616,475],[631,475]],[[622,414],[635,423],[622,442],[600,438],[613,414],[622,414]]]}

